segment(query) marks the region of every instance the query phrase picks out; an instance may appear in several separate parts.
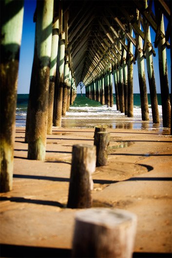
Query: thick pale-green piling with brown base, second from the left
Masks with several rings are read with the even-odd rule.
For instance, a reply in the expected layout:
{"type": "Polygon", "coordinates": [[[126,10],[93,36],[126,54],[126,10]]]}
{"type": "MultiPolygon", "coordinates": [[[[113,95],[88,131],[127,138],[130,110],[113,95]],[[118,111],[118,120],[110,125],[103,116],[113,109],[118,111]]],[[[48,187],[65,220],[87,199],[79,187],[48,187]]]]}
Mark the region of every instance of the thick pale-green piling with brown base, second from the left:
{"type": "Polygon", "coordinates": [[[37,1],[35,52],[30,85],[28,159],[45,159],[53,3],[53,0],[37,1]]]}

